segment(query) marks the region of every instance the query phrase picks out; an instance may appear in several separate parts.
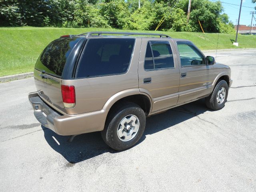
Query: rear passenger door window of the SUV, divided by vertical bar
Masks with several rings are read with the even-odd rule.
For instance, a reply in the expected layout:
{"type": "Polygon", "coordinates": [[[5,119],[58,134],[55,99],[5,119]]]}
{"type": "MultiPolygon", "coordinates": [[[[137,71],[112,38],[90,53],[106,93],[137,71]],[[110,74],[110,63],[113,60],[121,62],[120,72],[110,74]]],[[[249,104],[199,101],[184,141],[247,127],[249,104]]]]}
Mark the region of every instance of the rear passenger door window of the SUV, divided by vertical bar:
{"type": "Polygon", "coordinates": [[[144,69],[150,70],[170,67],[174,67],[174,62],[169,42],[148,42],[144,69]]]}

